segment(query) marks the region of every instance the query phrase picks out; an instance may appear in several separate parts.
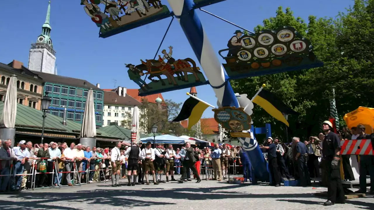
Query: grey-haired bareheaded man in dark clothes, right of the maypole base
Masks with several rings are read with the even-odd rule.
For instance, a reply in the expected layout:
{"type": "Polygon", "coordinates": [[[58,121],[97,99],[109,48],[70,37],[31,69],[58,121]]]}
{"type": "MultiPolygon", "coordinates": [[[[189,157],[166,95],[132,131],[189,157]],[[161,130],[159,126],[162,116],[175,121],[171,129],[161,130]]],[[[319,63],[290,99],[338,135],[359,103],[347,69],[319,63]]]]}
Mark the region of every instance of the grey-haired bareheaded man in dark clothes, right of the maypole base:
{"type": "Polygon", "coordinates": [[[310,175],[308,170],[308,149],[305,143],[300,142],[300,139],[297,137],[292,138],[292,144],[296,145],[296,156],[295,160],[297,161],[297,169],[299,173],[300,185],[306,187],[311,185],[310,175]]]}

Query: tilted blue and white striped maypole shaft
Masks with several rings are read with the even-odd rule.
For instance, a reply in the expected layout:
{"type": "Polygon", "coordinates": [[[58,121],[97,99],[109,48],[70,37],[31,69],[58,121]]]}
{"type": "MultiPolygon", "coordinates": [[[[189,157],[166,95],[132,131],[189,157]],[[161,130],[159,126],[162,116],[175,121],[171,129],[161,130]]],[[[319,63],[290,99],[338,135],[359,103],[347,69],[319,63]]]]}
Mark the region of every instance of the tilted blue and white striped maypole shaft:
{"type": "MultiPolygon", "coordinates": [[[[200,65],[212,86],[215,95],[218,99],[218,104],[221,106],[235,106],[239,107],[235,93],[231,87],[227,75],[224,73],[223,66],[218,60],[216,53],[206,35],[199,17],[195,13],[193,0],[168,0],[178,19],[181,27],[186,34],[191,47],[200,62],[200,65]]],[[[244,106],[243,106],[244,107],[244,106]]],[[[250,131],[250,130],[249,130],[250,131]]],[[[252,139],[250,149],[246,148],[246,154],[251,158],[251,163],[254,168],[257,179],[267,180],[268,172],[266,169],[265,160],[255,138],[252,139]],[[255,142],[253,142],[255,141],[255,142]]],[[[242,143],[244,143],[243,140],[242,143]]],[[[244,145],[245,146],[245,145],[244,145]]]]}

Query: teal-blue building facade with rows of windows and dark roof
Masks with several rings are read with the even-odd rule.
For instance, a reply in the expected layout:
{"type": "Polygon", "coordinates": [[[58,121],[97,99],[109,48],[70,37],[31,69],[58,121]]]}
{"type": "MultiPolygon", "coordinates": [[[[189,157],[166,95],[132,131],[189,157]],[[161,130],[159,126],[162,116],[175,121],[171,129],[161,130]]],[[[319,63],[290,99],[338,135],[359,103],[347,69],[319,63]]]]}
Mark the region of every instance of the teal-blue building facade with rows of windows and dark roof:
{"type": "Polygon", "coordinates": [[[100,84],[93,85],[86,80],[71,77],[63,77],[55,74],[33,71],[44,81],[44,91],[52,97],[50,113],[63,117],[64,108],[67,108],[67,119],[82,123],[83,112],[86,107],[88,90],[93,89],[93,101],[95,104],[96,127],[102,126],[102,109],[104,107],[104,92],[100,84]]]}

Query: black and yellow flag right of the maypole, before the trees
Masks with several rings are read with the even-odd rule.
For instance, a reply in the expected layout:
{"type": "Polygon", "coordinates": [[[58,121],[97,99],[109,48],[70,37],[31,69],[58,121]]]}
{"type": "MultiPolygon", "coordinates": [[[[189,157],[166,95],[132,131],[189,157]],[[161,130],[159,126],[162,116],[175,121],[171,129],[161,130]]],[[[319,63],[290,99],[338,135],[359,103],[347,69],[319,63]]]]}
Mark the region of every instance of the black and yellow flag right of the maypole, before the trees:
{"type": "Polygon", "coordinates": [[[267,113],[272,115],[272,117],[276,118],[287,126],[289,126],[289,124],[283,114],[299,114],[284,104],[276,95],[266,90],[261,90],[261,92],[258,93],[252,102],[261,106],[267,113]]]}

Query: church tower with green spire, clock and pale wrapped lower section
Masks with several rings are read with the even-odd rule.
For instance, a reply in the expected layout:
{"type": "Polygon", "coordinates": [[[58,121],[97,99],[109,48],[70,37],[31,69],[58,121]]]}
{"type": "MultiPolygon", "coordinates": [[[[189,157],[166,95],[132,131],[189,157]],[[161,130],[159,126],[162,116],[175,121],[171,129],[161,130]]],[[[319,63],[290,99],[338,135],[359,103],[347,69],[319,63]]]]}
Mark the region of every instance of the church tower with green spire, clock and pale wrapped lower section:
{"type": "Polygon", "coordinates": [[[55,71],[56,52],[53,50],[50,31],[52,28],[49,24],[50,17],[50,1],[47,9],[46,21],[42,27],[42,34],[31,44],[30,54],[28,56],[28,69],[48,74],[57,74],[55,71]]]}

